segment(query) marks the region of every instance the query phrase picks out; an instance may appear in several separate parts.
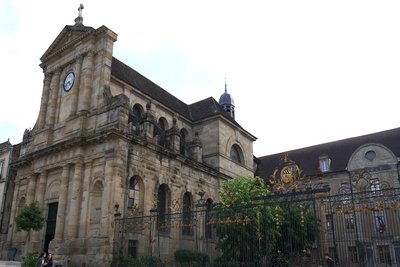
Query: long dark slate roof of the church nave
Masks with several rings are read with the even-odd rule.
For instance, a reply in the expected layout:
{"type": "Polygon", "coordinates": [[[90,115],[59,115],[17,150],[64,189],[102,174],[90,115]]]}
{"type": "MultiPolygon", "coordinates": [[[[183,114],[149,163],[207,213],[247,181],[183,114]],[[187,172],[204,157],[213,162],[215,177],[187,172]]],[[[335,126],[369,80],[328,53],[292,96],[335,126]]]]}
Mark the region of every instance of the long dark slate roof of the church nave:
{"type": "MultiPolygon", "coordinates": [[[[166,107],[174,110],[186,119],[196,122],[215,115],[221,115],[231,121],[236,126],[244,130],[213,98],[209,97],[191,105],[187,105],[166,90],[144,77],[128,65],[113,57],[111,65],[111,75],[132,85],[142,91],[150,98],[157,100],[166,107]]],[[[246,130],[244,130],[248,133],[246,130]]],[[[251,135],[250,133],[248,133],[251,135]]],[[[252,136],[252,135],[251,135],[252,136]]],[[[254,136],[252,136],[255,138],[254,136]]]]}

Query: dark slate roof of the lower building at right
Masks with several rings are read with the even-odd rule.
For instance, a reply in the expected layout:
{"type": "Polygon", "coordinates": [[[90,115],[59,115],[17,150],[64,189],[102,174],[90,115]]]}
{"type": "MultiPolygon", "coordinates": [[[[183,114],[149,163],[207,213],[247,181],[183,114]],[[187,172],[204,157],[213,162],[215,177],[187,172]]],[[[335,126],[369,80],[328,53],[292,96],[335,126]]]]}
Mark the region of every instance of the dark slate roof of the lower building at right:
{"type": "Polygon", "coordinates": [[[331,171],[343,171],[346,170],[353,152],[368,143],[382,144],[396,156],[400,156],[400,128],[259,157],[256,175],[264,179],[271,177],[285,153],[290,160],[297,163],[305,175],[319,172],[319,156],[323,154],[331,159],[331,171]]]}

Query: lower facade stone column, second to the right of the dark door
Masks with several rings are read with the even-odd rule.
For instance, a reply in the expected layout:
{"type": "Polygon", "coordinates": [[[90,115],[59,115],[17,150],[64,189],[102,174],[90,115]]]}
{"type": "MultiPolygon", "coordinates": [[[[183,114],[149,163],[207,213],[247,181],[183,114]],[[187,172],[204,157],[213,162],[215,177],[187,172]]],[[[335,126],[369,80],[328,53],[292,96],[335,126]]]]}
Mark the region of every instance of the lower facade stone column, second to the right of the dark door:
{"type": "Polygon", "coordinates": [[[79,223],[79,205],[81,203],[81,184],[82,184],[82,160],[75,163],[74,177],[72,178],[72,191],[70,198],[68,238],[76,238],[79,223]]]}

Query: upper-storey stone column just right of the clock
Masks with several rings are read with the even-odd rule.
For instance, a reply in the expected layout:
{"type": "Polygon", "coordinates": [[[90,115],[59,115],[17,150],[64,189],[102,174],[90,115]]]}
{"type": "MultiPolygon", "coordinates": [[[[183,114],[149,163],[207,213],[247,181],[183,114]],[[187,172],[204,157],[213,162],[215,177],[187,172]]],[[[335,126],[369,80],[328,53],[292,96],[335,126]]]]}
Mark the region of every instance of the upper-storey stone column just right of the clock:
{"type": "Polygon", "coordinates": [[[79,90],[78,112],[85,113],[90,110],[92,100],[94,52],[89,51],[82,67],[82,88],[79,90]]]}

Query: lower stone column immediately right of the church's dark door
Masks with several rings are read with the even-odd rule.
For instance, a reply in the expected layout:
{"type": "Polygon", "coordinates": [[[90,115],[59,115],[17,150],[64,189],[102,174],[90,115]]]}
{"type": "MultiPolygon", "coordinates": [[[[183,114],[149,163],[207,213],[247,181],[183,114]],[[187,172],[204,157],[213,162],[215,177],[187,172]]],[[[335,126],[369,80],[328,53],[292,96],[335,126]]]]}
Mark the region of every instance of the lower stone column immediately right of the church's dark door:
{"type": "Polygon", "coordinates": [[[65,211],[67,210],[69,164],[65,165],[61,174],[60,195],[58,197],[58,210],[56,232],[54,239],[61,241],[64,237],[65,211]]]}

